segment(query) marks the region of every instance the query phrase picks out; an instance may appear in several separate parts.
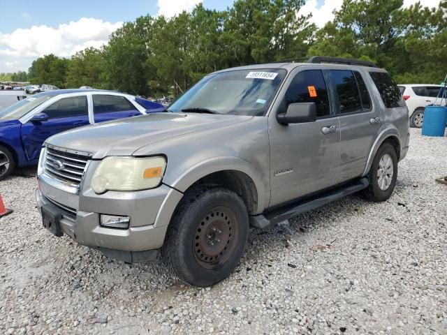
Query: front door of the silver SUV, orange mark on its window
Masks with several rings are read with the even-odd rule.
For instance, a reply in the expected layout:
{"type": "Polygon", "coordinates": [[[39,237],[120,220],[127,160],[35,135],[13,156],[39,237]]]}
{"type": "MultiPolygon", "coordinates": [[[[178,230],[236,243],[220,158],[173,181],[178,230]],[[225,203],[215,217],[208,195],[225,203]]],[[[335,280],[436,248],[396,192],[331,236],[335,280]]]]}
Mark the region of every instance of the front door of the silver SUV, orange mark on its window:
{"type": "Polygon", "coordinates": [[[316,104],[314,122],[284,126],[276,115],[270,115],[270,207],[328,188],[339,180],[339,120],[330,107],[321,70],[295,74],[281,103],[286,107],[307,102],[316,104]]]}

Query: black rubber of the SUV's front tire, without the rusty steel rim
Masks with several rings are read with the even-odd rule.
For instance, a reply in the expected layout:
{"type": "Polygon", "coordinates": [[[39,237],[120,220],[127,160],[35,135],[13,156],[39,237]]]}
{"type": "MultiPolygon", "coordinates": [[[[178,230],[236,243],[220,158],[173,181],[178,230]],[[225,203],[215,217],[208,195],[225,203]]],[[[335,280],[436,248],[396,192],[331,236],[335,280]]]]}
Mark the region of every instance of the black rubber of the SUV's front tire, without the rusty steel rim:
{"type": "MultiPolygon", "coordinates": [[[[176,215],[173,224],[177,225],[178,234],[174,241],[173,252],[177,253],[174,267],[177,275],[186,283],[200,287],[214,285],[227,278],[242,258],[249,234],[249,220],[247,208],[242,199],[225,188],[212,188],[201,193],[200,198],[190,202],[186,199],[186,209],[176,215]],[[235,249],[230,258],[215,269],[205,269],[200,266],[193,250],[193,238],[196,235],[197,225],[202,218],[214,207],[224,206],[230,208],[237,218],[239,234],[235,241],[235,249]]],[[[185,204],[184,204],[185,205],[185,204]]]]}

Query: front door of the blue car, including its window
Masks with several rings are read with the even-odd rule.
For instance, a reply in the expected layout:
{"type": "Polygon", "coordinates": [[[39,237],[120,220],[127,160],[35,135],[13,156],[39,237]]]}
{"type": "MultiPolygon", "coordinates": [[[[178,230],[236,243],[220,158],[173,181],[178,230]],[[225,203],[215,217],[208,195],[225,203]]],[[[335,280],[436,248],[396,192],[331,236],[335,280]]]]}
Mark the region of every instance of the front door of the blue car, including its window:
{"type": "Polygon", "coordinates": [[[87,96],[61,98],[42,111],[48,121],[27,121],[22,124],[21,137],[29,161],[38,159],[45,140],[62,131],[89,124],[87,96]]]}

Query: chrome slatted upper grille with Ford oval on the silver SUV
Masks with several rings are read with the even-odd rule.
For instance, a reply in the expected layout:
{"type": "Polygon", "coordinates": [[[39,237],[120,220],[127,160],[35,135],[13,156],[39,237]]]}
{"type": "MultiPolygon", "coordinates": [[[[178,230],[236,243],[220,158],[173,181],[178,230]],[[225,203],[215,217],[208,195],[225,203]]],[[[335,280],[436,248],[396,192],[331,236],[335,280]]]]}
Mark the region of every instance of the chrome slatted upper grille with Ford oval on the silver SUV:
{"type": "Polygon", "coordinates": [[[89,156],[71,154],[47,147],[45,153],[45,171],[52,177],[72,186],[80,184],[89,156]]]}

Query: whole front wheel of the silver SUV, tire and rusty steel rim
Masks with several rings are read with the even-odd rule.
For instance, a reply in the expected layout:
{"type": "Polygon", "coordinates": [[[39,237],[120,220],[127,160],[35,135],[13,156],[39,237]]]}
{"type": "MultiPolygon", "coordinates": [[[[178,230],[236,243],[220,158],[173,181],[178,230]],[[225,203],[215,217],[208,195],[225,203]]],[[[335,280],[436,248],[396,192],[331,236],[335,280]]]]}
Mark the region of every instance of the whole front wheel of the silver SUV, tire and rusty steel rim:
{"type": "Polygon", "coordinates": [[[180,280],[207,287],[230,276],[248,234],[247,207],[239,195],[193,188],[175,211],[161,253],[180,280]]]}

